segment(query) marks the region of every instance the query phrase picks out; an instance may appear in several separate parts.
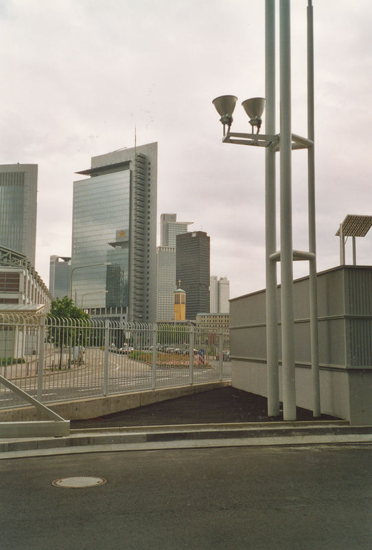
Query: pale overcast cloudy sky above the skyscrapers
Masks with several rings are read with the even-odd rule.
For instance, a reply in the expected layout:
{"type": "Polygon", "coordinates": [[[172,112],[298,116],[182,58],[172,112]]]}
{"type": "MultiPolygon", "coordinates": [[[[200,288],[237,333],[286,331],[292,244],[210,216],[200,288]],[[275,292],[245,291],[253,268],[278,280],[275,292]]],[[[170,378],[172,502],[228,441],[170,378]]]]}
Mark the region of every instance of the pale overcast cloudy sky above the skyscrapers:
{"type": "MultiPolygon", "coordinates": [[[[313,3],[325,270],[339,262],[345,215],[372,214],[372,3],[313,3]]],[[[292,131],[301,135],[306,5],[292,2],[292,131]]],[[[50,254],[71,254],[75,172],[133,146],[137,127],[137,144],[159,142],[158,219],[176,212],[211,236],[211,274],[230,279],[231,297],[264,287],[264,150],[222,144],[211,104],[236,95],[233,130],[250,131],[240,103],[265,93],[264,0],[2,0],[0,25],[0,164],[38,164],[36,269],[46,283],[50,254]]],[[[305,151],[292,162],[293,245],[306,250],[305,151]]],[[[372,230],[357,255],[371,264],[372,230]]],[[[296,263],[295,276],[306,269],[296,263]]]]}

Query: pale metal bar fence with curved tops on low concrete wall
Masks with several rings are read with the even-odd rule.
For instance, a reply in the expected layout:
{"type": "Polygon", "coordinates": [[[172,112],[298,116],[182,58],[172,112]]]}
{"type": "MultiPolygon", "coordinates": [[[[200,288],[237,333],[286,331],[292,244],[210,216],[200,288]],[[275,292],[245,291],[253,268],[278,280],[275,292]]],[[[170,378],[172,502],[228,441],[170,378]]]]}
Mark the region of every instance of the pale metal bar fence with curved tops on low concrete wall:
{"type": "MultiPolygon", "coordinates": [[[[45,403],[229,380],[229,331],[0,314],[0,365],[45,403]]],[[[0,385],[0,408],[23,404],[0,385]]]]}

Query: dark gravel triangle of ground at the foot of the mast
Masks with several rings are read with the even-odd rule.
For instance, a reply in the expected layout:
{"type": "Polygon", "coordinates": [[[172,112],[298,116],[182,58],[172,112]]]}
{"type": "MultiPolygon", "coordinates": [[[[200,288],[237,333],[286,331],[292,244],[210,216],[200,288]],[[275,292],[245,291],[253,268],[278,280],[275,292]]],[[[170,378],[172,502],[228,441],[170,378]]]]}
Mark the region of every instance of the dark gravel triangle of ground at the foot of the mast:
{"type": "MultiPolygon", "coordinates": [[[[316,420],[335,420],[322,415],[316,420]]],[[[266,397],[226,386],[216,390],[169,399],[112,415],[89,420],[73,420],[71,428],[108,428],[116,426],[165,426],[228,422],[271,422],[279,417],[266,415],[266,397]]],[[[314,420],[312,411],[297,407],[297,420],[314,420]]]]}

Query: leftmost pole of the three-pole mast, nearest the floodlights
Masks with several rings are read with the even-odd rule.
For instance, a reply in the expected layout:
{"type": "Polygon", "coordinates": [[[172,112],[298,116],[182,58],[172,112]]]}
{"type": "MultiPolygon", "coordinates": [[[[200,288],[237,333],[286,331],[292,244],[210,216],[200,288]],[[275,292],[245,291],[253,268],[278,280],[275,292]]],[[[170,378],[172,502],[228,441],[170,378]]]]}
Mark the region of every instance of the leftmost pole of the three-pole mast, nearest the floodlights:
{"type": "MultiPolygon", "coordinates": [[[[275,0],[266,0],[265,17],[266,133],[275,134],[275,0]]],[[[268,416],[279,415],[279,372],[277,336],[277,263],[270,254],[277,251],[275,204],[275,151],[266,148],[266,358],[268,416]]]]}

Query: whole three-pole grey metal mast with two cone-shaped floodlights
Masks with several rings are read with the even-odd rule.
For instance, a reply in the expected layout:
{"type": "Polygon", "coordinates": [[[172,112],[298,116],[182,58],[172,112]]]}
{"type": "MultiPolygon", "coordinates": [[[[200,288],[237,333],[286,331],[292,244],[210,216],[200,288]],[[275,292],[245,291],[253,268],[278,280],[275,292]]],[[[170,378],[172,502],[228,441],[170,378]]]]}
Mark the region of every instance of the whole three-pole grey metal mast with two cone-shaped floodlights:
{"type": "Polygon", "coordinates": [[[321,415],[318,364],[318,309],[316,296],[316,234],[314,192],[314,46],[312,0],[307,5],[307,137],[292,133],[290,90],[290,0],[279,5],[280,133],[275,135],[275,0],[266,0],[265,56],[266,98],[242,103],[250,118],[252,133],[231,132],[236,96],[213,100],[224,126],[223,143],[266,148],[266,347],[268,415],[279,415],[279,360],[277,341],[277,268],[281,263],[281,342],[284,420],[296,419],[293,261],[309,261],[310,333],[313,415],[321,415]],[[266,134],[259,134],[266,104],[266,134]],[[228,127],[227,133],[225,128],[228,127]],[[257,128],[254,133],[254,128],[257,128]],[[309,250],[294,250],[292,244],[292,150],[307,148],[309,250]],[[280,155],[280,250],[276,245],[275,153],[280,155]]]}

